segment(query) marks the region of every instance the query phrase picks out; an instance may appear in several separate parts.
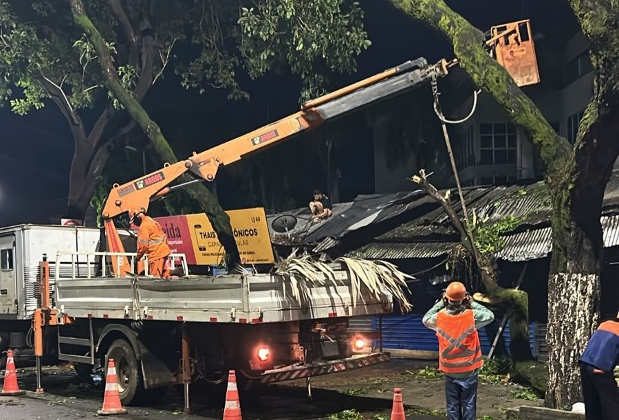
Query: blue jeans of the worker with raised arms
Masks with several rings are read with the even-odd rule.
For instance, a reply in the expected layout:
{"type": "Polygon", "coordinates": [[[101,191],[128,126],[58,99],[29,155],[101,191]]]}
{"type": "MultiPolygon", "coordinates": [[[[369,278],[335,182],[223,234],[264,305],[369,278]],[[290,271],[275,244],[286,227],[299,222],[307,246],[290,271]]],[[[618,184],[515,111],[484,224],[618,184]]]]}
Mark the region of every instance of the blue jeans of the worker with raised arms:
{"type": "Polygon", "coordinates": [[[456,379],[445,377],[448,420],[475,420],[477,375],[456,379]]]}

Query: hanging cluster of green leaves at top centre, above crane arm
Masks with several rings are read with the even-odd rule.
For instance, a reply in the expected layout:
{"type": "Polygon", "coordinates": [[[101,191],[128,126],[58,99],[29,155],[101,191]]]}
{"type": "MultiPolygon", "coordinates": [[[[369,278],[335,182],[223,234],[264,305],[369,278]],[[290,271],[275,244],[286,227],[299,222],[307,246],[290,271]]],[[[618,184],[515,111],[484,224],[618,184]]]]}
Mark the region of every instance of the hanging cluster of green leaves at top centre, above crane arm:
{"type": "Polygon", "coordinates": [[[301,101],[323,93],[328,71],[356,70],[371,45],[363,12],[349,0],[264,0],[241,8],[241,55],[250,76],[287,65],[303,80],[301,101]]]}

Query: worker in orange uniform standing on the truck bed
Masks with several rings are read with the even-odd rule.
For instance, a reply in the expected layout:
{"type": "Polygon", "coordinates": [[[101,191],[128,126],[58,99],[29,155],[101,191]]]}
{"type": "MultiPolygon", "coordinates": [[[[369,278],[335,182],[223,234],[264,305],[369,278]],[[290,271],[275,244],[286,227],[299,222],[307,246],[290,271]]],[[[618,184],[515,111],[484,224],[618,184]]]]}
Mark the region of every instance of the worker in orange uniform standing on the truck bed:
{"type": "Polygon", "coordinates": [[[129,217],[131,223],[138,226],[138,261],[146,255],[149,259],[149,274],[153,277],[169,278],[165,263],[171,250],[161,225],[152,217],[146,216],[143,210],[134,210],[129,213],[129,217]]]}

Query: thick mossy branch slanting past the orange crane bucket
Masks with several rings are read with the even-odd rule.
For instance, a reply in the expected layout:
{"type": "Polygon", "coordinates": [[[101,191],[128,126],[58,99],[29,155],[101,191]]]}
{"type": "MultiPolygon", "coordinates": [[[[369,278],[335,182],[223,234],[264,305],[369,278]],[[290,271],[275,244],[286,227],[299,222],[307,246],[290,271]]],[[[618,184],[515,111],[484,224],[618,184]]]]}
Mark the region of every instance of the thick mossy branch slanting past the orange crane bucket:
{"type": "Polygon", "coordinates": [[[550,173],[565,166],[572,155],[569,142],[554,132],[532,100],[490,57],[484,47],[484,35],[479,30],[451,10],[443,0],[391,0],[391,3],[430,24],[453,43],[460,66],[530,135],[550,173]]]}

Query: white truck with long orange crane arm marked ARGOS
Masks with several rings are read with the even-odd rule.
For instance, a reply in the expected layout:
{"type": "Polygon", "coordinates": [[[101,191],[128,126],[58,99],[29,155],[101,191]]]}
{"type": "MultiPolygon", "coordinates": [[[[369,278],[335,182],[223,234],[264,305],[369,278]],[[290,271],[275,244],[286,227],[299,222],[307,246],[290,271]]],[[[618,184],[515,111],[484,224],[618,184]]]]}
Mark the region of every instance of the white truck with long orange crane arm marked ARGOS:
{"type": "Polygon", "coordinates": [[[151,200],[182,186],[173,183],[184,174],[213,181],[219,166],[435,82],[454,63],[406,62],[305,102],[301,111],[277,122],[113,186],[102,209],[105,241],[96,228],[0,229],[0,351],[14,349],[18,362],[20,355],[34,355],[38,390],[43,363],[73,362],[76,371],[88,373],[113,358],[123,404],[145,403],[166,386],[182,384],[186,409],[191,382],[224,382],[228,369],[248,383],[306,378],[309,391],[310,377],[387,362],[382,348],[360,352],[376,335],[347,327],[351,317],[393,311],[393,296],[358,290],[346,267],[329,267],[333,282],[312,283],[299,274],[297,283],[307,287],[304,299],[274,273],[191,275],[182,254],[172,255],[184,267],[180,278],[135,276],[135,252],[125,250],[131,232],[119,231],[113,219],[147,210],[151,200]]]}

